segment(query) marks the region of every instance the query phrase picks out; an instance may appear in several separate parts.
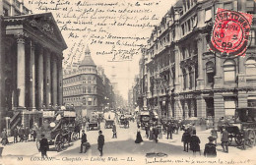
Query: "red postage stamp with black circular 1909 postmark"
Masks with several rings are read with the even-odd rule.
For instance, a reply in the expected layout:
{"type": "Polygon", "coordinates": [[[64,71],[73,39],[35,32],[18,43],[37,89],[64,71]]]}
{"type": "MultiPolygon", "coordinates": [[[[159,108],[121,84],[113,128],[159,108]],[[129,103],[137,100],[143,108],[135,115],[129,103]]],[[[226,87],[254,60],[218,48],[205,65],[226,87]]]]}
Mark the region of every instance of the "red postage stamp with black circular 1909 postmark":
{"type": "Polygon", "coordinates": [[[210,50],[244,56],[250,36],[252,15],[218,8],[210,50]]]}

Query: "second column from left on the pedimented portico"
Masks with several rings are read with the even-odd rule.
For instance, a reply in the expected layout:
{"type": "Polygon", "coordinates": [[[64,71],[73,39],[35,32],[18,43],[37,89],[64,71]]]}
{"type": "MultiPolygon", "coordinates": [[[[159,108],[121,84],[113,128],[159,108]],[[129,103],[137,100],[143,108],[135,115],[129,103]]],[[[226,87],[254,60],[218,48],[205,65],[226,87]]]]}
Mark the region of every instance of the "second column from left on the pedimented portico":
{"type": "Polygon", "coordinates": [[[34,44],[30,44],[30,107],[35,108],[35,68],[34,68],[34,44]]]}

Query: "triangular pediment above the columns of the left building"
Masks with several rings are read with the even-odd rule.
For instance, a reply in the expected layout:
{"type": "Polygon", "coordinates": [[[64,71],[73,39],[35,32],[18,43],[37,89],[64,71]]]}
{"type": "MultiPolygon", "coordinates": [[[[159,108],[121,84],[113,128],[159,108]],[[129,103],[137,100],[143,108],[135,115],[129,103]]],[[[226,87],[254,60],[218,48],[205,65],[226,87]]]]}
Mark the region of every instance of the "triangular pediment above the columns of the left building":
{"type": "Polygon", "coordinates": [[[6,26],[23,25],[23,28],[38,37],[57,43],[64,50],[67,44],[51,13],[21,15],[5,18],[6,26]]]}

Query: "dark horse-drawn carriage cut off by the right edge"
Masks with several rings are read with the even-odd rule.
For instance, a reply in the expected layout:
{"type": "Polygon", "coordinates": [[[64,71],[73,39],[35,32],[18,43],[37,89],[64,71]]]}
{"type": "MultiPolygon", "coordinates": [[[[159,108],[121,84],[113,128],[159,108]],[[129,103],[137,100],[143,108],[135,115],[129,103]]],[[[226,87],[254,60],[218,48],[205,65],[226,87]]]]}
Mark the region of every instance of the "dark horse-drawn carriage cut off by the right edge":
{"type": "Polygon", "coordinates": [[[234,139],[237,145],[254,146],[256,143],[256,108],[236,108],[233,123],[224,128],[228,132],[228,144],[234,139]]]}

